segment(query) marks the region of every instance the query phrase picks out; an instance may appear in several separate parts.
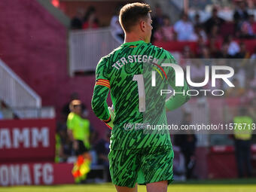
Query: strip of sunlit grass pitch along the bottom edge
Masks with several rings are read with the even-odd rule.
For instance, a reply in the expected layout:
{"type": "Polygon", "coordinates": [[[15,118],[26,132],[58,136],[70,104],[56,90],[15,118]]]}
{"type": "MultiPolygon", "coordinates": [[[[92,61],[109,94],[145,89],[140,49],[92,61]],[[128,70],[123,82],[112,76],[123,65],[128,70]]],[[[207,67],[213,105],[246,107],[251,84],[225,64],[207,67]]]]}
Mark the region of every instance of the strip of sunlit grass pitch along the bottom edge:
{"type": "MultiPolygon", "coordinates": [[[[230,180],[229,180],[230,181],[230,180]]],[[[64,184],[53,186],[0,187],[1,192],[114,192],[113,184],[64,184]]],[[[146,192],[139,186],[139,192],[146,192]]],[[[171,192],[255,192],[256,179],[243,181],[195,181],[170,184],[171,192]],[[247,182],[248,181],[248,182],[247,182]]]]}

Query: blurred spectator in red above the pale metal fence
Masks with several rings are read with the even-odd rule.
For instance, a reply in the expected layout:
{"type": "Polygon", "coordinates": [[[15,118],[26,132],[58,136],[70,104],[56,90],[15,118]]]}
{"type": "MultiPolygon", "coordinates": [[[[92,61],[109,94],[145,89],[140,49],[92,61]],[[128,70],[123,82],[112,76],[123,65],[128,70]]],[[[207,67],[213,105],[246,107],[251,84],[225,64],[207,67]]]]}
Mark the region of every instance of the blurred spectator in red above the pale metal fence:
{"type": "Polygon", "coordinates": [[[84,15],[83,29],[96,29],[99,27],[99,20],[96,17],[96,8],[90,6],[84,15]]]}

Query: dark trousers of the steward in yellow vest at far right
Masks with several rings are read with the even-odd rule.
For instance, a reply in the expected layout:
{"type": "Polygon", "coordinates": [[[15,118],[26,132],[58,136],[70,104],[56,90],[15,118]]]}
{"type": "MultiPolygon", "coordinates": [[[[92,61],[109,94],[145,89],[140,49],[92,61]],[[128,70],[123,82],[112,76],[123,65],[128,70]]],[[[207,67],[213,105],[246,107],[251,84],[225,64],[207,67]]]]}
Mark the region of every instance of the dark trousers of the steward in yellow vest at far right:
{"type": "Polygon", "coordinates": [[[235,150],[239,178],[245,176],[245,171],[247,172],[247,176],[251,177],[251,141],[235,139],[235,150]]]}

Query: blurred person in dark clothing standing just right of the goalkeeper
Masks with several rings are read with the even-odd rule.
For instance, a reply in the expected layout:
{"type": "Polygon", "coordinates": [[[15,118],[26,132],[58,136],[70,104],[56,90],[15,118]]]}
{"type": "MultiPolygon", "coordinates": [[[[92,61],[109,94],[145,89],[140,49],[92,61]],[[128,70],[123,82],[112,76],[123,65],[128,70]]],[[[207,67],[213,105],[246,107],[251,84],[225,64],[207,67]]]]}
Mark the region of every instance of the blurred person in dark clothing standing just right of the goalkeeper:
{"type": "MultiPolygon", "coordinates": [[[[192,118],[190,113],[184,113],[181,125],[190,125],[192,118]]],[[[186,134],[175,135],[175,145],[181,148],[184,155],[186,177],[187,179],[193,178],[193,169],[195,165],[195,151],[196,151],[197,137],[190,130],[186,134]]]]}

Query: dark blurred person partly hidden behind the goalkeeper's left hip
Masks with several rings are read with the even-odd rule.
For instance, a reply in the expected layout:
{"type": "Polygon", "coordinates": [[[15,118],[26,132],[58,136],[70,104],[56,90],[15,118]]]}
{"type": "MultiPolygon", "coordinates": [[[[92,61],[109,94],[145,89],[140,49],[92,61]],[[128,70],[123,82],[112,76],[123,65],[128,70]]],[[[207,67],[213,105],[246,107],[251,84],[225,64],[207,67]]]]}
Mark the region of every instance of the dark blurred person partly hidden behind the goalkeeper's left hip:
{"type": "Polygon", "coordinates": [[[98,164],[105,167],[105,171],[108,172],[108,181],[111,181],[110,172],[109,172],[109,142],[110,142],[111,131],[106,130],[105,135],[99,142],[96,144],[95,150],[98,156],[98,164]]]}

